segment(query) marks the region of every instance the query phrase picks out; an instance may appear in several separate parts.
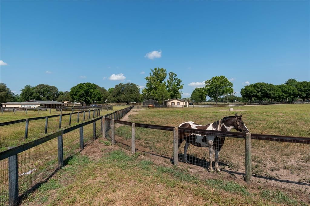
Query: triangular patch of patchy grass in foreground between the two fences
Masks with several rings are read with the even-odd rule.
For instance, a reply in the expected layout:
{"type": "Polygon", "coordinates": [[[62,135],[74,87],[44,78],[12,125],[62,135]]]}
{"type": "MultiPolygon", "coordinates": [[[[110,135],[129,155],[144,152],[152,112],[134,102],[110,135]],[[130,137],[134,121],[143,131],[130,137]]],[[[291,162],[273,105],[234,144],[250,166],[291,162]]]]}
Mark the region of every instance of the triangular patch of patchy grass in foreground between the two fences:
{"type": "Polygon", "coordinates": [[[288,192],[201,178],[109,144],[97,139],[21,205],[306,205],[288,192]]]}

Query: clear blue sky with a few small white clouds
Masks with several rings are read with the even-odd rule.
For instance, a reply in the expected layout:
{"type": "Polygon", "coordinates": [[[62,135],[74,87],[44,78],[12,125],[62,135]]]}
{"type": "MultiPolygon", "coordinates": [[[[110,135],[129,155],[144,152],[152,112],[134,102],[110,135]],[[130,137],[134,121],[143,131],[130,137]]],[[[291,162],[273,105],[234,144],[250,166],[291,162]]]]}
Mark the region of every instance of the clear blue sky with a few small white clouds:
{"type": "Polygon", "coordinates": [[[182,97],[224,75],[310,81],[309,1],[1,1],[1,82],[60,91],[82,82],[145,86],[150,68],[182,80],[182,97]],[[116,79],[116,80],[113,80],[116,79]]]}

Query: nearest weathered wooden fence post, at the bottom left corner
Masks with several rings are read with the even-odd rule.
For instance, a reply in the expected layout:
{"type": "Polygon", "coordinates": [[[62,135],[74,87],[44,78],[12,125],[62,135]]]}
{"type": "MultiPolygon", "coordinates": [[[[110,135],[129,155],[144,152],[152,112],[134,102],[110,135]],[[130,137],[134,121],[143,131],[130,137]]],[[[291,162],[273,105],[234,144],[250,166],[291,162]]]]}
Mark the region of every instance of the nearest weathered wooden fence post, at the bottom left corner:
{"type": "MultiPolygon", "coordinates": [[[[11,149],[14,147],[8,147],[11,149]]],[[[8,178],[9,178],[9,205],[17,205],[18,203],[18,160],[17,155],[8,158],[8,178]]]]}

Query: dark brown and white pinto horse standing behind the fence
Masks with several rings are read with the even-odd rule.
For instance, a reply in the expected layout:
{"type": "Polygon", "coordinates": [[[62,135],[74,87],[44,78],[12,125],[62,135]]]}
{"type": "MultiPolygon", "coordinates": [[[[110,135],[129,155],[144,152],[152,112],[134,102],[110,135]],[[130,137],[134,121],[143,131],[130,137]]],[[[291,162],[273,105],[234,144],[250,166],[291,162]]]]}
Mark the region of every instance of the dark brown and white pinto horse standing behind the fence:
{"type": "Polygon", "coordinates": [[[199,135],[194,133],[182,132],[181,128],[191,128],[191,129],[202,129],[202,130],[218,130],[218,131],[230,131],[232,128],[235,128],[238,132],[246,132],[250,131],[243,123],[242,114],[240,116],[235,114],[235,116],[224,117],[221,120],[215,121],[213,123],[207,125],[198,125],[195,122],[184,122],[179,125],[179,147],[182,142],[185,140],[184,146],[184,161],[187,161],[187,149],[190,144],[193,144],[197,147],[209,147],[209,156],[210,156],[210,166],[209,170],[214,171],[212,168],[213,154],[215,150],[215,170],[219,170],[218,159],[219,159],[219,151],[221,150],[225,137],[224,136],[211,136],[211,135],[199,135]]]}

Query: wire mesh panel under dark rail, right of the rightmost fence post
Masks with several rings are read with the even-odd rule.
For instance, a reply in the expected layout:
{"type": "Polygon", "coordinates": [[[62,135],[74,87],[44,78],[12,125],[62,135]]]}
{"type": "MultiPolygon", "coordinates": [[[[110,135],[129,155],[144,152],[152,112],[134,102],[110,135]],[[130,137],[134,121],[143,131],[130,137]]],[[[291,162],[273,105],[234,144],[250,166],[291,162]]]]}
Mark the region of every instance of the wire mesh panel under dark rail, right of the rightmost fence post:
{"type": "Polygon", "coordinates": [[[253,176],[280,187],[310,189],[310,144],[264,140],[252,140],[253,176]]]}

